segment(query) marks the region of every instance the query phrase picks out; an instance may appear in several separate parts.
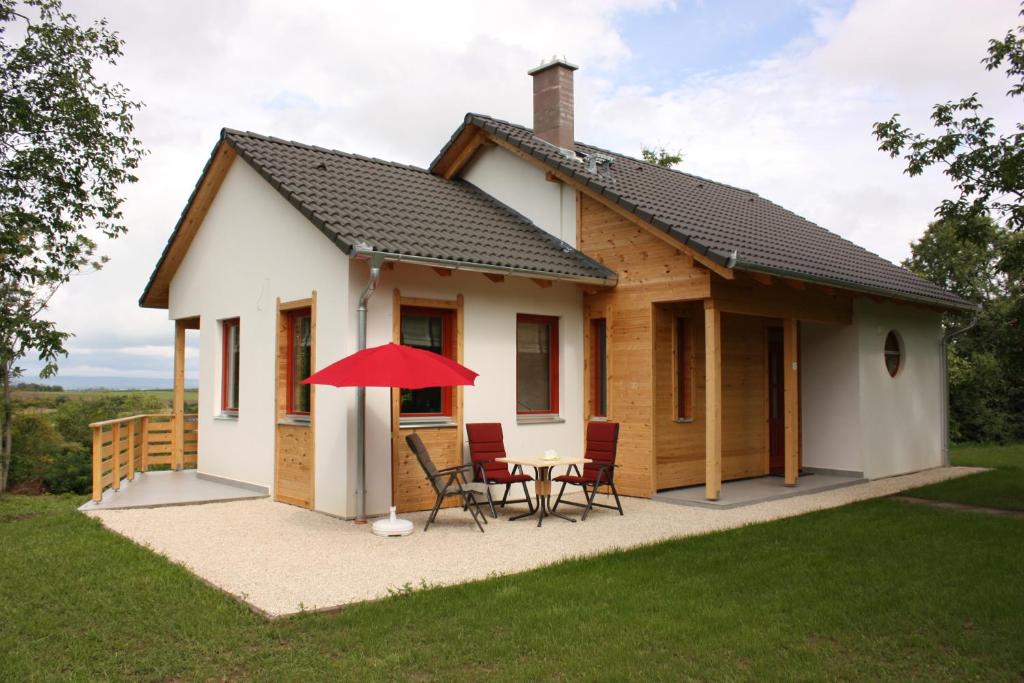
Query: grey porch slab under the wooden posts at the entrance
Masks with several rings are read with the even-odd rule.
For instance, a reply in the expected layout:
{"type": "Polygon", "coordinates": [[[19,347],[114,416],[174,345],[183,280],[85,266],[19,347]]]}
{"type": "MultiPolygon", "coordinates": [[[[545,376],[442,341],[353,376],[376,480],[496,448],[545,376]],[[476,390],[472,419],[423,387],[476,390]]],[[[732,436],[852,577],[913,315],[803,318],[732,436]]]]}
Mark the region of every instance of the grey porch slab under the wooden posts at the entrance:
{"type": "Polygon", "coordinates": [[[725,481],[722,483],[722,492],[717,501],[709,501],[705,498],[703,484],[663,490],[654,497],[654,500],[675,505],[728,510],[745,505],[756,505],[758,503],[767,503],[768,501],[777,501],[795,496],[805,496],[822,490],[831,490],[833,488],[842,488],[843,486],[852,486],[864,481],[865,479],[859,476],[813,472],[802,474],[796,486],[786,486],[782,481],[782,477],[766,476],[740,479],[738,481],[725,481]]]}

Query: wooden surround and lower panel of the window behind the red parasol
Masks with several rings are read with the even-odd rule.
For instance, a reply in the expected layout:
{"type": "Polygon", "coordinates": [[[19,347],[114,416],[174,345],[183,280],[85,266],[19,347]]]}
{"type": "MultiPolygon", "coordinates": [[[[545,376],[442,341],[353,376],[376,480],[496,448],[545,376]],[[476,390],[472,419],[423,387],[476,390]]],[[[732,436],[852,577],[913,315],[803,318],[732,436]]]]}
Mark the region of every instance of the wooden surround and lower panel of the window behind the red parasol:
{"type": "MultiPolygon", "coordinates": [[[[402,297],[394,290],[392,307],[392,340],[401,342],[401,307],[417,306],[422,308],[445,308],[455,310],[455,355],[458,362],[463,361],[463,297],[460,294],[455,301],[417,299],[402,297]]],[[[452,420],[454,425],[443,427],[411,427],[401,428],[399,423],[400,389],[391,390],[391,501],[398,512],[415,512],[430,510],[434,506],[436,496],[416,460],[416,456],[406,443],[406,437],[416,433],[423,439],[430,453],[430,458],[437,469],[461,465],[463,402],[462,387],[455,387],[452,395],[452,420]]],[[[455,500],[446,501],[443,507],[458,505],[455,500]]]]}

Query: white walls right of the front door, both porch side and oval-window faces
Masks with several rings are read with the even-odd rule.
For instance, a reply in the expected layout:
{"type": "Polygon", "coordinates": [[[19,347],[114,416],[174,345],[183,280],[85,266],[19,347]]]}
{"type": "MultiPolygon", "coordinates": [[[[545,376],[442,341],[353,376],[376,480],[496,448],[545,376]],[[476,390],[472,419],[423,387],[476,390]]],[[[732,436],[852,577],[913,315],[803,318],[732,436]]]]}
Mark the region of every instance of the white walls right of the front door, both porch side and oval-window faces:
{"type": "Polygon", "coordinates": [[[941,316],[858,299],[853,325],[801,324],[804,466],[869,479],[942,464],[941,316]],[[890,330],[900,337],[896,377],[885,366],[890,330]]]}

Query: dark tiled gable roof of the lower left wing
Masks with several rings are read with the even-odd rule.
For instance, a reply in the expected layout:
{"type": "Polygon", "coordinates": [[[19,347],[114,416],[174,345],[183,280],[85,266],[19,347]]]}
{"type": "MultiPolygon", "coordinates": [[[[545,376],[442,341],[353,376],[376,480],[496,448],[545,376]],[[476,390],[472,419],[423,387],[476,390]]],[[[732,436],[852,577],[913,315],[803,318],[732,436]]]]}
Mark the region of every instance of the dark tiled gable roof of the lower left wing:
{"type": "Polygon", "coordinates": [[[191,236],[184,236],[182,228],[223,145],[346,254],[368,248],[411,260],[432,259],[447,267],[591,284],[615,282],[614,272],[464,180],[225,128],[139,300],[142,306],[166,307],[166,292],[157,288],[170,285],[177,262],[169,255],[176,243],[190,242],[191,236]]]}

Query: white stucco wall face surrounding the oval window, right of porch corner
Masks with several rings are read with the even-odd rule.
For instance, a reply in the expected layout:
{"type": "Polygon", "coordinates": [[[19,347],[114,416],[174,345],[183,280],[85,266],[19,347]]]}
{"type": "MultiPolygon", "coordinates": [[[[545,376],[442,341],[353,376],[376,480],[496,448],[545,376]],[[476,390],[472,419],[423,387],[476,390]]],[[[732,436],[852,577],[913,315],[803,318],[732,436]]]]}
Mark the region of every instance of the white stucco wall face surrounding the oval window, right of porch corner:
{"type": "Polygon", "coordinates": [[[942,464],[942,327],[939,313],[857,300],[860,423],[864,475],[874,479],[942,464]],[[883,359],[895,330],[903,361],[890,377],[883,359]]]}

